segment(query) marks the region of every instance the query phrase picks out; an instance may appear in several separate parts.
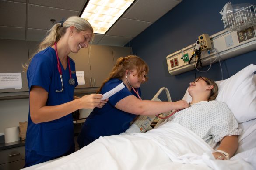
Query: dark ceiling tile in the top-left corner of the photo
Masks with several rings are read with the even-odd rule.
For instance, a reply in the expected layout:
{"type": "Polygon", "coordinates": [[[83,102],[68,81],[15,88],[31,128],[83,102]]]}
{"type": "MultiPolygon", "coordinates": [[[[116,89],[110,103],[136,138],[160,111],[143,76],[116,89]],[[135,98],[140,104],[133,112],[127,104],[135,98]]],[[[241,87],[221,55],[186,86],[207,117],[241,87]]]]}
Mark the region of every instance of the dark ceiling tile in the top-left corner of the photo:
{"type": "Polygon", "coordinates": [[[26,27],[26,4],[0,0],[1,26],[26,27]],[[4,16],[4,17],[3,17],[4,16]]]}

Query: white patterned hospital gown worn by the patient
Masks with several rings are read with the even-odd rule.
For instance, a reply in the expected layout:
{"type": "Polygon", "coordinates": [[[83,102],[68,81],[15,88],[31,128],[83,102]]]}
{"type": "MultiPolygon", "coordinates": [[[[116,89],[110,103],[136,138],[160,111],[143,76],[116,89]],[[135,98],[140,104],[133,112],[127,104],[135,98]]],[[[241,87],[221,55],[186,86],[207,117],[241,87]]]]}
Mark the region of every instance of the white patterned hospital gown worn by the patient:
{"type": "Polygon", "coordinates": [[[212,148],[219,146],[224,136],[240,135],[234,115],[224,102],[201,101],[183,109],[166,121],[179,123],[200,136],[212,148]]]}

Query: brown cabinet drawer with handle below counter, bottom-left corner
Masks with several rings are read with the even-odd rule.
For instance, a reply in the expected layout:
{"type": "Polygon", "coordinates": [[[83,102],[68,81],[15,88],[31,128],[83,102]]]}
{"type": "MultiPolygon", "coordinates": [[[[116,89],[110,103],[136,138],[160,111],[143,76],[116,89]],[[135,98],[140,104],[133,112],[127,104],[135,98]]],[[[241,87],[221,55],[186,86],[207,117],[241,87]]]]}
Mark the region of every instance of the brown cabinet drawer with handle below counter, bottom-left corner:
{"type": "Polygon", "coordinates": [[[25,165],[25,146],[0,150],[0,170],[19,170],[25,165]]]}

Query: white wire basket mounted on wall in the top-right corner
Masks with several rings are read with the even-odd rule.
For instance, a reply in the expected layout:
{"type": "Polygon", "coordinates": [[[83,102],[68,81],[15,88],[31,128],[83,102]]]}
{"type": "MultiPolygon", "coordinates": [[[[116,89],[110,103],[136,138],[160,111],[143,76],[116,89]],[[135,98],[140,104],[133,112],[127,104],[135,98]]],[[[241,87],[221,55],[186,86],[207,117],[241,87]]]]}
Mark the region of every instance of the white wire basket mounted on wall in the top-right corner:
{"type": "Polygon", "coordinates": [[[221,20],[223,21],[225,30],[241,31],[249,28],[256,25],[256,6],[251,5],[221,20]]]}

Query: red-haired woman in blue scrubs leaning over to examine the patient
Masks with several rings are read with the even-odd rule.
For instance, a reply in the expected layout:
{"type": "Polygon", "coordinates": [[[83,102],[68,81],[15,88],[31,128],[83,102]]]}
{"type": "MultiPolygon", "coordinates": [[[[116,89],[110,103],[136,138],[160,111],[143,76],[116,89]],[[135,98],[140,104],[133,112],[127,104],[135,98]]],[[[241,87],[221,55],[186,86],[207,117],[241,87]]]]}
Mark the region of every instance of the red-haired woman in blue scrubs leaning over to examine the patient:
{"type": "Polygon", "coordinates": [[[137,115],[156,115],[169,110],[189,107],[186,101],[159,102],[142,100],[140,85],[147,81],[148,66],[136,55],[121,57],[116,61],[109,77],[97,93],[105,94],[120,83],[125,88],[109,97],[102,108],[95,108],[88,116],[77,137],[82,148],[100,136],[118,135],[125,132],[137,115]]]}

